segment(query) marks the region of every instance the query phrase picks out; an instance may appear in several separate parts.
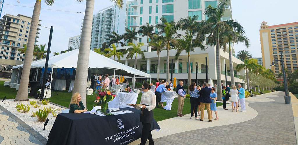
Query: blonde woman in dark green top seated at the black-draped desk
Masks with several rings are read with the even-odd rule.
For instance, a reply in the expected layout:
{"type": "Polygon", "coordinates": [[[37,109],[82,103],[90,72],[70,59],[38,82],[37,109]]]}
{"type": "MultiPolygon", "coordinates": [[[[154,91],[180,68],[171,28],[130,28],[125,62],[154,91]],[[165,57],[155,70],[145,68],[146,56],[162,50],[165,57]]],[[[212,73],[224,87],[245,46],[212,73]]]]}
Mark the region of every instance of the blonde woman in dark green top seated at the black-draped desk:
{"type": "Polygon", "coordinates": [[[83,102],[81,102],[80,93],[75,93],[72,95],[72,102],[70,103],[69,113],[82,113],[86,112],[83,102]]]}

